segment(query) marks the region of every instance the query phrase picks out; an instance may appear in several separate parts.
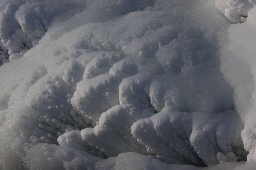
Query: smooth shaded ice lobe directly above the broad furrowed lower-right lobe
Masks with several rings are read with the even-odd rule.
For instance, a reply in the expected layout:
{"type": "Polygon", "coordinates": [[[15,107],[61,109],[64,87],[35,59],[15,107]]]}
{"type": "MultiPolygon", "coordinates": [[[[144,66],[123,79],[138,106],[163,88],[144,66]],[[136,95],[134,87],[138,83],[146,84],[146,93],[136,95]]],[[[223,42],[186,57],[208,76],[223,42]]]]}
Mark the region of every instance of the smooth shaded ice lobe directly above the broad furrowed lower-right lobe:
{"type": "Polygon", "coordinates": [[[157,111],[161,111],[164,106],[184,112],[214,113],[233,109],[232,100],[226,100],[232,98],[232,91],[226,86],[220,71],[208,68],[200,75],[198,72],[198,67],[185,66],[179,76],[172,73],[155,76],[149,88],[151,104],[157,111]],[[209,84],[197,84],[204,81],[209,84]]]}

